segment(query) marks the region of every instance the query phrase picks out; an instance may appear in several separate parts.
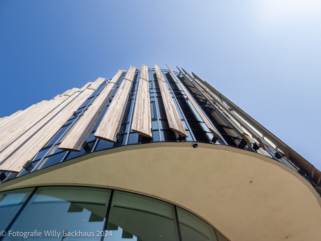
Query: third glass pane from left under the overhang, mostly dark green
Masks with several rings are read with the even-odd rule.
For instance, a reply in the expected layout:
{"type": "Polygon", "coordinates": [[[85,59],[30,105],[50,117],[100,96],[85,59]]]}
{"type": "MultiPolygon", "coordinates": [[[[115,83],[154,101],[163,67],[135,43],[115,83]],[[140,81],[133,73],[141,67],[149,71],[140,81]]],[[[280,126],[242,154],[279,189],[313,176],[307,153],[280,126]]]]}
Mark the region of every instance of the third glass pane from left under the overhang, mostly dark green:
{"type": "Polygon", "coordinates": [[[107,231],[107,240],[178,241],[174,206],[146,196],[114,191],[107,231]],[[110,229],[109,229],[110,228],[110,229]]]}

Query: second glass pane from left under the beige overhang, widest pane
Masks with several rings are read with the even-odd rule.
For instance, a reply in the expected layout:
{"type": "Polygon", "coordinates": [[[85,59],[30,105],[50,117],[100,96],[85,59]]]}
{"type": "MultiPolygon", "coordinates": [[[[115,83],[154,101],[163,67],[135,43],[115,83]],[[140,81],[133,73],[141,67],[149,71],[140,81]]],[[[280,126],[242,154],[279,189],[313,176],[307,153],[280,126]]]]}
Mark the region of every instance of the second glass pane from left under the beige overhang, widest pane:
{"type": "MultiPolygon", "coordinates": [[[[40,240],[100,240],[96,231],[103,230],[110,190],[88,187],[40,187],[27,203],[13,226],[15,231],[57,231],[60,237],[40,240]],[[81,231],[77,238],[62,232],[81,231]]],[[[6,236],[4,240],[11,240],[6,236]]]]}

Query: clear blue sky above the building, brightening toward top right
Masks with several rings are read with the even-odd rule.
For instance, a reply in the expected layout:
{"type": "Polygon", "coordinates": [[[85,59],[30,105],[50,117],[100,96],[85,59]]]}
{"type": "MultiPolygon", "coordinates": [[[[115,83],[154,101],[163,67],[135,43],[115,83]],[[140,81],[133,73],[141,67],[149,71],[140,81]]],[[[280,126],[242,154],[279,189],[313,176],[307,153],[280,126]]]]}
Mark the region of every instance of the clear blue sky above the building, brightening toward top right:
{"type": "Polygon", "coordinates": [[[321,169],[320,22],[320,0],[1,0],[0,117],[119,68],[168,64],[321,169]]]}

